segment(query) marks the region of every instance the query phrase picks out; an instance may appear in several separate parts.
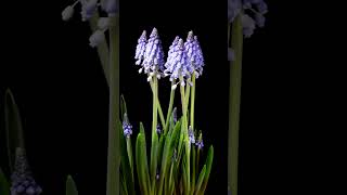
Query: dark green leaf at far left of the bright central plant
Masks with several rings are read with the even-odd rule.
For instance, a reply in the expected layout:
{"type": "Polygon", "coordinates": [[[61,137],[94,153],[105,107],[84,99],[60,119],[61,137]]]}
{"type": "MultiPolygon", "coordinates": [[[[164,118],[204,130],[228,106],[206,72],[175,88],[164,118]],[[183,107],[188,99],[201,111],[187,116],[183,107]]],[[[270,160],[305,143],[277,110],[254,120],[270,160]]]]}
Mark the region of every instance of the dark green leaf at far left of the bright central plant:
{"type": "MultiPolygon", "coordinates": [[[[118,120],[118,126],[121,126],[120,121],[118,120]]],[[[126,143],[126,139],[123,134],[123,131],[119,131],[120,133],[120,169],[121,172],[124,174],[123,179],[123,183],[121,185],[124,185],[123,187],[125,192],[127,192],[127,194],[136,194],[134,193],[134,181],[133,181],[133,170],[130,167],[130,162],[129,162],[129,158],[128,158],[128,151],[127,151],[127,143],[126,143]]]]}

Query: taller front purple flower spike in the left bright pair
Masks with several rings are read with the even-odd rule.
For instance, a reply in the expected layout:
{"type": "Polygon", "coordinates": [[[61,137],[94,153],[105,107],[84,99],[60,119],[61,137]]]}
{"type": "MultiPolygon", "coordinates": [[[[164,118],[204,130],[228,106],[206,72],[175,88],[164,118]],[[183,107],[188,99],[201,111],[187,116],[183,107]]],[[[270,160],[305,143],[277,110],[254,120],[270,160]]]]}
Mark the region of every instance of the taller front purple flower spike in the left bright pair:
{"type": "Polygon", "coordinates": [[[142,66],[144,73],[150,74],[149,81],[154,75],[159,78],[159,70],[164,70],[164,51],[156,28],[153,28],[146,43],[142,66]]]}

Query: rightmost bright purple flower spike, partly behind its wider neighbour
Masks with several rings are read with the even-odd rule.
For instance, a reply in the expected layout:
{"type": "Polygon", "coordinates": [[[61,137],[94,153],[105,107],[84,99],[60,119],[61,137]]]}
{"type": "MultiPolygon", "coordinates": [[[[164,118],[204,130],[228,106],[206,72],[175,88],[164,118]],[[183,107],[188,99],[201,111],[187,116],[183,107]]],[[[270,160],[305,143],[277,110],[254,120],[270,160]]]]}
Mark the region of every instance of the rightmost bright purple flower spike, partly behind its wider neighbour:
{"type": "Polygon", "coordinates": [[[203,66],[205,64],[203,52],[197,41],[197,37],[193,35],[192,30],[188,34],[187,41],[184,42],[184,49],[197,78],[200,75],[203,74],[203,66]]]}

